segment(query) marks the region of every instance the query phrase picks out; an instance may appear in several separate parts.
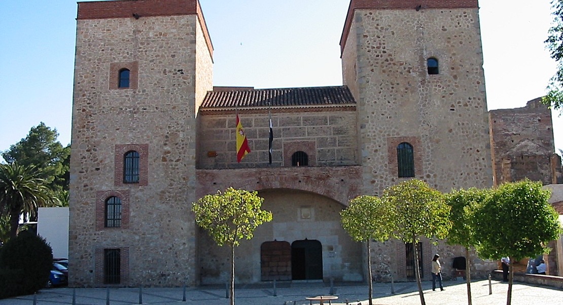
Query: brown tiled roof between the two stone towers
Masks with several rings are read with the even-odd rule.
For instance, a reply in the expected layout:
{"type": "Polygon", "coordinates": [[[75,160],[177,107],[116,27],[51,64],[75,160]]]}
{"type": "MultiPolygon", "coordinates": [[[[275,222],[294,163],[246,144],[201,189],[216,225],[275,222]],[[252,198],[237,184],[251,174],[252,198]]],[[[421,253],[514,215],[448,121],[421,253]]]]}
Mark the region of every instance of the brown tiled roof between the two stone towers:
{"type": "Polygon", "coordinates": [[[347,86],[209,91],[200,109],[345,105],[356,101],[347,86]]]}

